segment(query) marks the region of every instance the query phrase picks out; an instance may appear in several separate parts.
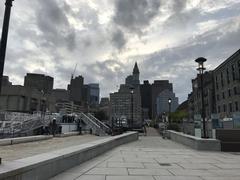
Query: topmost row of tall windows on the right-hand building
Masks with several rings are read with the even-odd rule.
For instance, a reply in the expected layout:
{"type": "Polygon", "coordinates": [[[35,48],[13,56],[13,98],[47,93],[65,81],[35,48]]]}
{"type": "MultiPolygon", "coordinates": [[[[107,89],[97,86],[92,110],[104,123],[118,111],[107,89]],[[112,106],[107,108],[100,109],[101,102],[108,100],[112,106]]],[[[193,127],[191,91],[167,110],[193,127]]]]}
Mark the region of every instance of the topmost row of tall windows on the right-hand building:
{"type": "MultiPolygon", "coordinates": [[[[235,68],[235,64],[232,64],[232,66],[230,68],[227,68],[226,69],[226,81],[227,81],[227,84],[230,84],[231,80],[232,81],[235,81],[237,79],[236,77],[236,72],[238,71],[238,76],[240,77],[240,61],[237,62],[237,68],[238,70],[236,70],[235,68]],[[231,71],[231,72],[230,72],[231,71]],[[231,75],[230,75],[231,74],[231,75]],[[231,77],[231,78],[230,78],[231,77]]],[[[221,87],[224,87],[225,85],[225,81],[224,81],[224,78],[223,76],[225,76],[225,73],[224,72],[221,72],[220,74],[220,83],[221,83],[221,87]]],[[[238,78],[239,79],[239,78],[238,78]]],[[[219,89],[219,81],[218,81],[218,76],[215,77],[215,81],[216,81],[216,89],[218,90],[219,89]]]]}

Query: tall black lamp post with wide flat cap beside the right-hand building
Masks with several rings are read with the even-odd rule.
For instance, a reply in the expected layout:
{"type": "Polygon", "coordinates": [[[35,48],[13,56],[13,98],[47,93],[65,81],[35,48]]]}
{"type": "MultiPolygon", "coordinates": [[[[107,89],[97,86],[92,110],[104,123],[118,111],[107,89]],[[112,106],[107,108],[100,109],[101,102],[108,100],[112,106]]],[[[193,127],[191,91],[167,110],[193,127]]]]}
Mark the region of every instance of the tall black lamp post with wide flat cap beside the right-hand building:
{"type": "Polygon", "coordinates": [[[202,119],[203,119],[203,138],[207,138],[206,134],[206,121],[205,121],[205,104],[204,104],[204,88],[203,88],[203,73],[206,68],[204,67],[204,62],[206,62],[207,59],[203,57],[199,57],[195,60],[195,62],[198,63],[198,72],[200,75],[200,83],[201,83],[201,99],[202,99],[202,119]]]}

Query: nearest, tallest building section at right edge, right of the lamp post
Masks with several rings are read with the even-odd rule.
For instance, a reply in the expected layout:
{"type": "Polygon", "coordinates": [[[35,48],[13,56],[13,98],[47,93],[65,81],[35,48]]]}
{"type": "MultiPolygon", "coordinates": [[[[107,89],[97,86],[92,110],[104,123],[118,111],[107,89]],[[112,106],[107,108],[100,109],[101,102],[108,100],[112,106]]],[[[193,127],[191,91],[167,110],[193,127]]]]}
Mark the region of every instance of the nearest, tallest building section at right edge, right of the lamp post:
{"type": "Polygon", "coordinates": [[[214,70],[215,101],[220,118],[240,112],[240,50],[214,70]]]}

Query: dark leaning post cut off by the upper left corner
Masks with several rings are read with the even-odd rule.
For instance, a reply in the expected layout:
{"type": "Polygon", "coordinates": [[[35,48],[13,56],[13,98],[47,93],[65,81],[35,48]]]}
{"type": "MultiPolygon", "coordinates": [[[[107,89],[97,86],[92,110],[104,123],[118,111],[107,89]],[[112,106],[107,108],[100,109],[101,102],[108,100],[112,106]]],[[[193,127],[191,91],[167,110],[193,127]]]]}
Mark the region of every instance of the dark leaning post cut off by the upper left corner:
{"type": "Polygon", "coordinates": [[[7,47],[7,37],[8,37],[8,28],[9,28],[9,20],[11,14],[12,2],[14,0],[6,0],[5,2],[5,13],[2,27],[2,37],[0,44],[0,94],[2,90],[2,78],[3,78],[3,70],[4,70],[4,62],[6,55],[6,47],[7,47]]]}

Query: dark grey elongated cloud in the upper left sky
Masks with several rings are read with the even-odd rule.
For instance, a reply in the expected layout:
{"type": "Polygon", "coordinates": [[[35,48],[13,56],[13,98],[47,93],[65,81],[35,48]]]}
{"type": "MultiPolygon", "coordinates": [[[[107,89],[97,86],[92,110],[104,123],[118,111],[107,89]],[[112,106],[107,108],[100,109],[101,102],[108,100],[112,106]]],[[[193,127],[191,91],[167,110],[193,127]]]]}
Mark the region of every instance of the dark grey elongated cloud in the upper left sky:
{"type": "Polygon", "coordinates": [[[37,25],[43,32],[46,44],[52,47],[67,46],[73,50],[76,46],[75,29],[70,26],[68,18],[56,0],[39,0],[39,8],[36,11],[37,25]]]}

